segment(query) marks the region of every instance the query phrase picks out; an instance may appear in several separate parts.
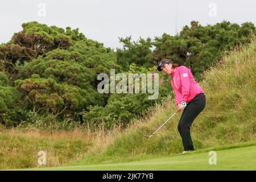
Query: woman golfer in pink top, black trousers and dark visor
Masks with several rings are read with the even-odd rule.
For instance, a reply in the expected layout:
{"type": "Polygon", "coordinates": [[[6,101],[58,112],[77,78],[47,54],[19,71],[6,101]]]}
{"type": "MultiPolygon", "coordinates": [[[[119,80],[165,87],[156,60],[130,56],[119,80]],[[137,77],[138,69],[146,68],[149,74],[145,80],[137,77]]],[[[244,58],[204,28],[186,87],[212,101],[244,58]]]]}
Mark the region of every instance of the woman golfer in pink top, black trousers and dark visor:
{"type": "Polygon", "coordinates": [[[194,150],[190,127],[205,107],[204,90],[197,84],[191,71],[183,65],[179,67],[171,60],[163,60],[157,69],[172,77],[171,85],[174,89],[176,105],[179,110],[183,110],[177,129],[182,138],[184,154],[194,150]]]}

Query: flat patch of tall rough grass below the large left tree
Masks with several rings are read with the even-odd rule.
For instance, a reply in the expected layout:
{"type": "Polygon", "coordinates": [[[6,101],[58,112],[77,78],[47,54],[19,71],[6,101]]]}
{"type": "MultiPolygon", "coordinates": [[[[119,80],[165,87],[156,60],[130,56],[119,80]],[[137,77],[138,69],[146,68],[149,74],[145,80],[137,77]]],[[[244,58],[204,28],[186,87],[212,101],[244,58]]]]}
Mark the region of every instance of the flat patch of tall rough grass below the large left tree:
{"type": "Polygon", "coordinates": [[[0,169],[53,167],[80,159],[93,134],[73,131],[55,131],[0,128],[0,169]],[[39,165],[39,151],[46,152],[46,165],[39,165]]]}

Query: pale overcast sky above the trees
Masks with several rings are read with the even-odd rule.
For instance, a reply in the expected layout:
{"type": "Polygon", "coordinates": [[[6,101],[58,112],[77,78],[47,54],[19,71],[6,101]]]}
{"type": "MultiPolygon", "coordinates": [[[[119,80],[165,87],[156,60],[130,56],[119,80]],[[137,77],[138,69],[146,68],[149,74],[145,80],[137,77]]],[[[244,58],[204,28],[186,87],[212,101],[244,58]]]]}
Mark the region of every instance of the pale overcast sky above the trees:
{"type": "Polygon", "coordinates": [[[191,20],[214,24],[222,20],[256,24],[255,0],[9,0],[0,5],[0,44],[8,42],[21,24],[79,28],[86,38],[116,48],[118,37],[133,40],[175,35],[191,20]],[[176,3],[177,2],[177,3],[176,3]]]}

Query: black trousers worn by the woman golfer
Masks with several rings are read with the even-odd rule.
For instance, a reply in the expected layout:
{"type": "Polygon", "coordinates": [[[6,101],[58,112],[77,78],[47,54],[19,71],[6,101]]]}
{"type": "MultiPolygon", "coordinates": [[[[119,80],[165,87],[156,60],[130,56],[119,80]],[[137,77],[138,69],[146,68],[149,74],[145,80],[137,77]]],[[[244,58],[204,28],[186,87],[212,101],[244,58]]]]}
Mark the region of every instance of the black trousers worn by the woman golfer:
{"type": "Polygon", "coordinates": [[[199,113],[204,109],[206,98],[204,93],[194,97],[185,107],[181,114],[178,130],[182,138],[184,151],[194,150],[193,142],[190,135],[190,127],[199,113]]]}

